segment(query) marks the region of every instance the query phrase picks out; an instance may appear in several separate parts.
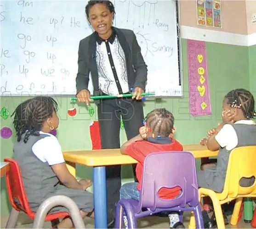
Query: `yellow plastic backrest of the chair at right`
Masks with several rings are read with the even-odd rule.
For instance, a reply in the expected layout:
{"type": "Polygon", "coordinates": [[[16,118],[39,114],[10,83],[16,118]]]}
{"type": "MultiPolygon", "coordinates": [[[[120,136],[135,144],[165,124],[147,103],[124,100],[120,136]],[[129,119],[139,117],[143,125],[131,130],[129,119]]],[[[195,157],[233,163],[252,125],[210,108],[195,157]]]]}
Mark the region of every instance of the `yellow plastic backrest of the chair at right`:
{"type": "Polygon", "coordinates": [[[225,179],[223,198],[234,198],[239,195],[256,195],[256,146],[234,148],[228,159],[228,169],[225,179]],[[254,176],[255,182],[250,187],[242,187],[242,178],[254,176]]]}

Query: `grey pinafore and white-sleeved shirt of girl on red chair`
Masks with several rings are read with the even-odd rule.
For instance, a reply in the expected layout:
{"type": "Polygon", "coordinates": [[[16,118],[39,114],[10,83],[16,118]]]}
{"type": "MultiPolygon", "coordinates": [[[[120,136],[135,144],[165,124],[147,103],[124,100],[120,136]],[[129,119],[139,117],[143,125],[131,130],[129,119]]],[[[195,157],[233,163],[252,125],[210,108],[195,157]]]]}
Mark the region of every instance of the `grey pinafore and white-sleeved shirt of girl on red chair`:
{"type": "MultiPolygon", "coordinates": [[[[14,159],[21,169],[22,180],[28,203],[33,212],[40,204],[51,196],[70,197],[83,212],[93,210],[93,196],[88,191],[67,188],[59,183],[51,165],[65,163],[61,146],[57,138],[40,131],[39,136],[29,136],[24,143],[24,135],[20,142],[14,144],[14,159]]],[[[16,200],[18,202],[18,200],[16,200]]],[[[54,207],[51,213],[68,212],[65,207],[54,207]]]]}

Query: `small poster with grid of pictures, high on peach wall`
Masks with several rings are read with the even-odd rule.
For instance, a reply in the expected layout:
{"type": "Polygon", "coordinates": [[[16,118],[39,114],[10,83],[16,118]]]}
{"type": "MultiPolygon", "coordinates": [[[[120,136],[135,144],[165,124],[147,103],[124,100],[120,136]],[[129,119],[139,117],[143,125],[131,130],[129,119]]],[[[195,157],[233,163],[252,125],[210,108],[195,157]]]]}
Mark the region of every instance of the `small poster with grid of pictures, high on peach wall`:
{"type": "Polygon", "coordinates": [[[196,8],[198,25],[222,28],[221,0],[197,0],[196,8]]]}

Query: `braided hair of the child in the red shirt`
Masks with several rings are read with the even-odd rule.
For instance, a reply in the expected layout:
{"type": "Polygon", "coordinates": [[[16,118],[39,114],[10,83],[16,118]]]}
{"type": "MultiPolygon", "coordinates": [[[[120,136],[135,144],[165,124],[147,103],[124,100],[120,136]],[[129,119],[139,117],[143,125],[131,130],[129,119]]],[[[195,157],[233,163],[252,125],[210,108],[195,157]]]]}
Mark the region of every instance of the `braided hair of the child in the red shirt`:
{"type": "Polygon", "coordinates": [[[154,109],[147,114],[146,123],[157,136],[168,137],[173,131],[174,117],[165,108],[154,109]]]}

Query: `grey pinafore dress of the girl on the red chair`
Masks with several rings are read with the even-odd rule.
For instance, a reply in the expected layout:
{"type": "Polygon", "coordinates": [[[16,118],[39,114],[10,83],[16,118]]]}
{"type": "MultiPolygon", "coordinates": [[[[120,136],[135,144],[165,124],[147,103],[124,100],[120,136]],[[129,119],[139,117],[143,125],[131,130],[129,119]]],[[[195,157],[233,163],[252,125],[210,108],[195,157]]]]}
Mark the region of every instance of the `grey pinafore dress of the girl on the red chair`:
{"type": "MultiPolygon", "coordinates": [[[[27,143],[24,143],[22,138],[20,142],[14,144],[13,148],[14,159],[20,166],[31,210],[36,212],[40,204],[48,197],[63,195],[70,197],[83,212],[91,212],[93,210],[92,194],[88,191],[71,189],[60,185],[51,166],[47,162],[40,161],[34,155],[32,151],[34,143],[47,136],[44,134],[29,136],[27,143]]],[[[51,210],[51,213],[57,212],[68,212],[68,209],[58,206],[51,210]]]]}

